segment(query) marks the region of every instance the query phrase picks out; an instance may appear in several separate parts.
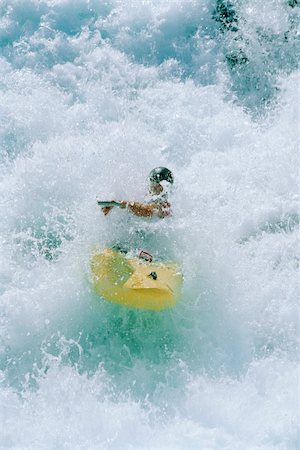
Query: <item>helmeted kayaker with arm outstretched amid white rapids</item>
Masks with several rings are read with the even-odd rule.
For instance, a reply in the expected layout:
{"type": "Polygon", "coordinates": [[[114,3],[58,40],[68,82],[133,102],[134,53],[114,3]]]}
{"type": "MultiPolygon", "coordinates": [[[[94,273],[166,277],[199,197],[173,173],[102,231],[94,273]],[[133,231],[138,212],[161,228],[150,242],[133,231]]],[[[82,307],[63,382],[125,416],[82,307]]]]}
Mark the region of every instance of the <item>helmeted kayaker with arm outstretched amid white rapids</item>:
{"type": "MultiPolygon", "coordinates": [[[[149,201],[129,202],[121,201],[119,208],[126,209],[138,217],[159,217],[163,219],[171,215],[171,204],[168,201],[168,186],[174,183],[174,177],[170,169],[166,167],[156,167],[151,170],[149,176],[149,201]]],[[[113,206],[102,208],[106,216],[113,206]]]]}

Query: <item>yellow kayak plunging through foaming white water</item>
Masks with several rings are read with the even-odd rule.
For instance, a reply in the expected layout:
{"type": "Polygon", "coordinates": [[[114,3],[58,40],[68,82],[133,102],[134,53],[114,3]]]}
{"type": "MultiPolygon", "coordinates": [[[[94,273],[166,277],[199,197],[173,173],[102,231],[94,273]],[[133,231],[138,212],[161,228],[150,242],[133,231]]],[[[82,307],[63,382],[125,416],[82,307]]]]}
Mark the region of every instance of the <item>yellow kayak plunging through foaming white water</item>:
{"type": "Polygon", "coordinates": [[[146,261],[112,249],[91,257],[91,273],[94,289],[101,297],[153,311],[174,306],[183,282],[175,263],[146,261]]]}

